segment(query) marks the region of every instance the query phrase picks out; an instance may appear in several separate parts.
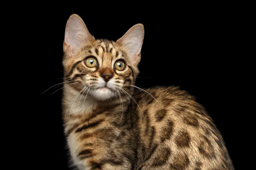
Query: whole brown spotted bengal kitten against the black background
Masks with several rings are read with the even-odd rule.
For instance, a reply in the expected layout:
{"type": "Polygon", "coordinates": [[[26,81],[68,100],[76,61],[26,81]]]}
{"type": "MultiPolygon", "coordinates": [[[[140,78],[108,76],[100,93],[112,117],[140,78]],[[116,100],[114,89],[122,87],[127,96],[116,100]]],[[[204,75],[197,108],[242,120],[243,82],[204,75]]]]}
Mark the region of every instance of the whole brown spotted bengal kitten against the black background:
{"type": "Polygon", "coordinates": [[[63,120],[79,170],[233,170],[205,109],[177,87],[134,86],[142,24],[95,40],[78,15],[64,40],[63,120]]]}

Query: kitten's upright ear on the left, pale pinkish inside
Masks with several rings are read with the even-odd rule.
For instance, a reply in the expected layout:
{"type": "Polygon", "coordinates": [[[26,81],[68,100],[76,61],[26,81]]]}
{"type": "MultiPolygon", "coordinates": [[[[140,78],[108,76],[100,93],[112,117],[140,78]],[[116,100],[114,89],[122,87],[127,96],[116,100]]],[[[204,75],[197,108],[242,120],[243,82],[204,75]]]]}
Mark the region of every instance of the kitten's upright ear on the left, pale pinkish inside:
{"type": "Polygon", "coordinates": [[[74,51],[93,40],[95,40],[94,37],[88,31],[81,17],[76,14],[71,15],[67,21],[63,44],[66,54],[73,56],[74,51]]]}

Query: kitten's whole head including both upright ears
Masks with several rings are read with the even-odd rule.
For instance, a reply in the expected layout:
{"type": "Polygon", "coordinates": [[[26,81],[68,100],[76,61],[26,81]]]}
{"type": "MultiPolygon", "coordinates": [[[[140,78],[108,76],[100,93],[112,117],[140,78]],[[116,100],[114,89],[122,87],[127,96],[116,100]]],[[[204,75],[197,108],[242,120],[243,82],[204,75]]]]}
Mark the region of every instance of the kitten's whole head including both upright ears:
{"type": "MultiPolygon", "coordinates": [[[[96,40],[78,15],[67,21],[64,39],[64,78],[69,88],[108,100],[133,91],[144,27],[137,24],[116,42],[96,40]]],[[[67,85],[67,84],[66,84],[67,85]]]]}

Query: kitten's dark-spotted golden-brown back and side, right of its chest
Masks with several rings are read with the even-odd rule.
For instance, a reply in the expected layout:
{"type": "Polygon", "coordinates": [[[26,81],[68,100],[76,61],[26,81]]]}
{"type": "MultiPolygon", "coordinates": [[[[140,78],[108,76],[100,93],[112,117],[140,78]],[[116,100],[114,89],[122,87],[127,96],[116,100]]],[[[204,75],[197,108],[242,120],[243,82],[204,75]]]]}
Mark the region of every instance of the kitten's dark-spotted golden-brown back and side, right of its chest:
{"type": "Polygon", "coordinates": [[[143,170],[233,169],[221,134],[195,97],[173,86],[144,90],[148,93],[136,89],[133,95],[148,155],[143,170]]]}

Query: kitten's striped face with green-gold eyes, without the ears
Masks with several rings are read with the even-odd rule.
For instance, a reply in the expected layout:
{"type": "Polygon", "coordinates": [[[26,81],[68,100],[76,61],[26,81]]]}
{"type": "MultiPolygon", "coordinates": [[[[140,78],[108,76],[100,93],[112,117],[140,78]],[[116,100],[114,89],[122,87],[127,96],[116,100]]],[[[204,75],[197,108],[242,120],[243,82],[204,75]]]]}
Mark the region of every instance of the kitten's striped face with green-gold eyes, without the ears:
{"type": "Polygon", "coordinates": [[[106,40],[86,45],[76,52],[75,59],[64,60],[66,81],[75,83],[71,86],[78,92],[85,95],[88,92],[96,99],[110,99],[125,91],[131,94],[138,71],[120,48],[116,42],[106,40]]]}

